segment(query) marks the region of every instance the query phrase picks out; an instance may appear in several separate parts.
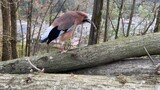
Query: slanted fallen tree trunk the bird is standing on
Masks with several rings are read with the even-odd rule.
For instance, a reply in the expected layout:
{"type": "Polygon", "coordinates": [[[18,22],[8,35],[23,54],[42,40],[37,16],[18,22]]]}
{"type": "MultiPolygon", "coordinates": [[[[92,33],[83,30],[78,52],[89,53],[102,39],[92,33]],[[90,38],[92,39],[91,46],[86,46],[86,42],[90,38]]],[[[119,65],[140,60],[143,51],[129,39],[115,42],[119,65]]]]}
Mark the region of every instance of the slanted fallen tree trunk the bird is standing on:
{"type": "MultiPolygon", "coordinates": [[[[160,33],[124,38],[106,43],[78,48],[65,54],[49,53],[43,56],[29,57],[33,64],[44,68],[44,72],[64,72],[93,67],[129,57],[160,53],[160,33]]],[[[29,73],[32,68],[26,60],[4,61],[0,63],[0,73],[29,73]]]]}

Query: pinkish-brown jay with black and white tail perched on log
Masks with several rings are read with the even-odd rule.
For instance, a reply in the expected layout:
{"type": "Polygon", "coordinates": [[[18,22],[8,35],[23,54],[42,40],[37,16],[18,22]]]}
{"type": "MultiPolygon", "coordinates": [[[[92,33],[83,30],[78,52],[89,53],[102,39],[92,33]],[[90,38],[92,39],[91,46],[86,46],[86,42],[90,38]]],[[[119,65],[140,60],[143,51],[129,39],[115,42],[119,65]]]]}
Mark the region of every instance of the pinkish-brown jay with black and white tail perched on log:
{"type": "MultiPolygon", "coordinates": [[[[83,23],[91,23],[96,28],[95,24],[88,18],[88,14],[83,11],[69,11],[55,19],[54,22],[40,36],[40,42],[46,42],[47,45],[52,40],[60,37],[61,52],[64,51],[64,42],[73,37],[76,27],[83,23]]],[[[65,51],[64,51],[65,52],[65,51]]]]}

